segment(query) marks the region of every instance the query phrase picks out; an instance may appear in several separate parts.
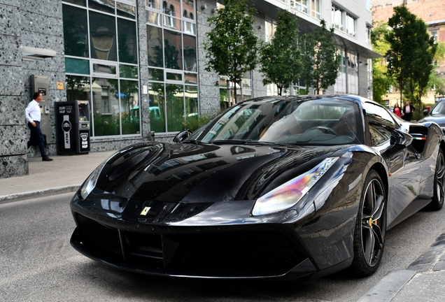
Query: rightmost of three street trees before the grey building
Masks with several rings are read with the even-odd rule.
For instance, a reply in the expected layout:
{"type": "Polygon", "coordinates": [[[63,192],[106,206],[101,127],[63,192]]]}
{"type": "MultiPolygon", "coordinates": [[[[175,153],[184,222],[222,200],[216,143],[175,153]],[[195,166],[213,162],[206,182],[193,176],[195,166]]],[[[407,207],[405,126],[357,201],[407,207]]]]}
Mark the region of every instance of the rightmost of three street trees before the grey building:
{"type": "Polygon", "coordinates": [[[306,87],[313,87],[316,94],[320,89],[327,89],[334,85],[339,73],[340,57],[334,43],[334,28],[326,28],[325,20],[320,21],[313,34],[305,34],[303,38],[304,61],[302,78],[306,87]]]}

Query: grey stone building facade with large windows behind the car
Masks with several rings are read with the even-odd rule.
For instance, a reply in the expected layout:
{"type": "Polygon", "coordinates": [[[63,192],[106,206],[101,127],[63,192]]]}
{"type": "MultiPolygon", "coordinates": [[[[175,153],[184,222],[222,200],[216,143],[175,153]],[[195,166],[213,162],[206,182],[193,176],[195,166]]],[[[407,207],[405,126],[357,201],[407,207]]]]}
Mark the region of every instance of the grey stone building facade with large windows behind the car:
{"type": "MultiPolygon", "coordinates": [[[[48,154],[57,153],[55,103],[88,101],[90,152],[118,150],[153,139],[171,141],[183,120],[228,106],[225,77],[205,71],[208,18],[214,0],[0,0],[0,178],[28,173],[29,130],[24,108],[34,90],[44,92],[42,113],[48,154]],[[43,77],[48,88],[36,86],[43,77]],[[216,85],[220,82],[220,85],[216,85]]],[[[313,32],[320,20],[334,27],[341,55],[339,77],[328,93],[372,98],[369,0],[262,0],[255,31],[271,38],[278,12],[299,18],[313,32]],[[351,2],[354,5],[351,5],[351,2]]],[[[295,83],[288,94],[295,94],[295,83]]],[[[255,70],[245,75],[236,99],[276,94],[255,70]]],[[[233,87],[228,87],[232,89],[233,87]]],[[[42,104],[41,104],[42,105],[42,104]]]]}

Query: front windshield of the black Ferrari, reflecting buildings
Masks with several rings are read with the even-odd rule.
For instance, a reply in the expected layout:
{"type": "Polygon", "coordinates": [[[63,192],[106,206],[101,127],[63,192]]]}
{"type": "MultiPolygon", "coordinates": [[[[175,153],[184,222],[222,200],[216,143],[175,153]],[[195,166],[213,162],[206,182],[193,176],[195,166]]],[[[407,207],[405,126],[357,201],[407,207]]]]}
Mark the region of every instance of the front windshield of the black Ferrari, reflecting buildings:
{"type": "Polygon", "coordinates": [[[260,99],[225,110],[187,141],[343,145],[358,143],[358,104],[341,99],[260,99]]]}

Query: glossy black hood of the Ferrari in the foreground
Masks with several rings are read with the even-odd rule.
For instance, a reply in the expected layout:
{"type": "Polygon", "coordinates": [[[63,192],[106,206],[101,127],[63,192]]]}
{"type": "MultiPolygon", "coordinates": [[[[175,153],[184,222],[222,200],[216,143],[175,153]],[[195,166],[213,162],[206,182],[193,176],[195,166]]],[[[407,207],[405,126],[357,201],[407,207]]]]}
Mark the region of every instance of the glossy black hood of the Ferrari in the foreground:
{"type": "Polygon", "coordinates": [[[106,161],[96,188],[123,198],[152,201],[252,200],[309,171],[339,149],[138,144],[106,161]]]}

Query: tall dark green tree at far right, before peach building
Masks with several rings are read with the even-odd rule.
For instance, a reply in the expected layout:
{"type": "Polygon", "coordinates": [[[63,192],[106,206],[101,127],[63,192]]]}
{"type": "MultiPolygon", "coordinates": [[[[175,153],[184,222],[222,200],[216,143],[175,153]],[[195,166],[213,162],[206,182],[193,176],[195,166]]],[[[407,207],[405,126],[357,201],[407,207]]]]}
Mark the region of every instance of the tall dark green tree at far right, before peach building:
{"type": "Polygon", "coordinates": [[[400,99],[405,93],[411,103],[417,103],[417,99],[418,108],[421,108],[421,97],[434,69],[432,61],[437,45],[429,36],[425,22],[410,13],[404,5],[394,8],[388,25],[392,28],[385,34],[390,44],[386,52],[388,75],[395,78],[400,89],[400,99]]]}

